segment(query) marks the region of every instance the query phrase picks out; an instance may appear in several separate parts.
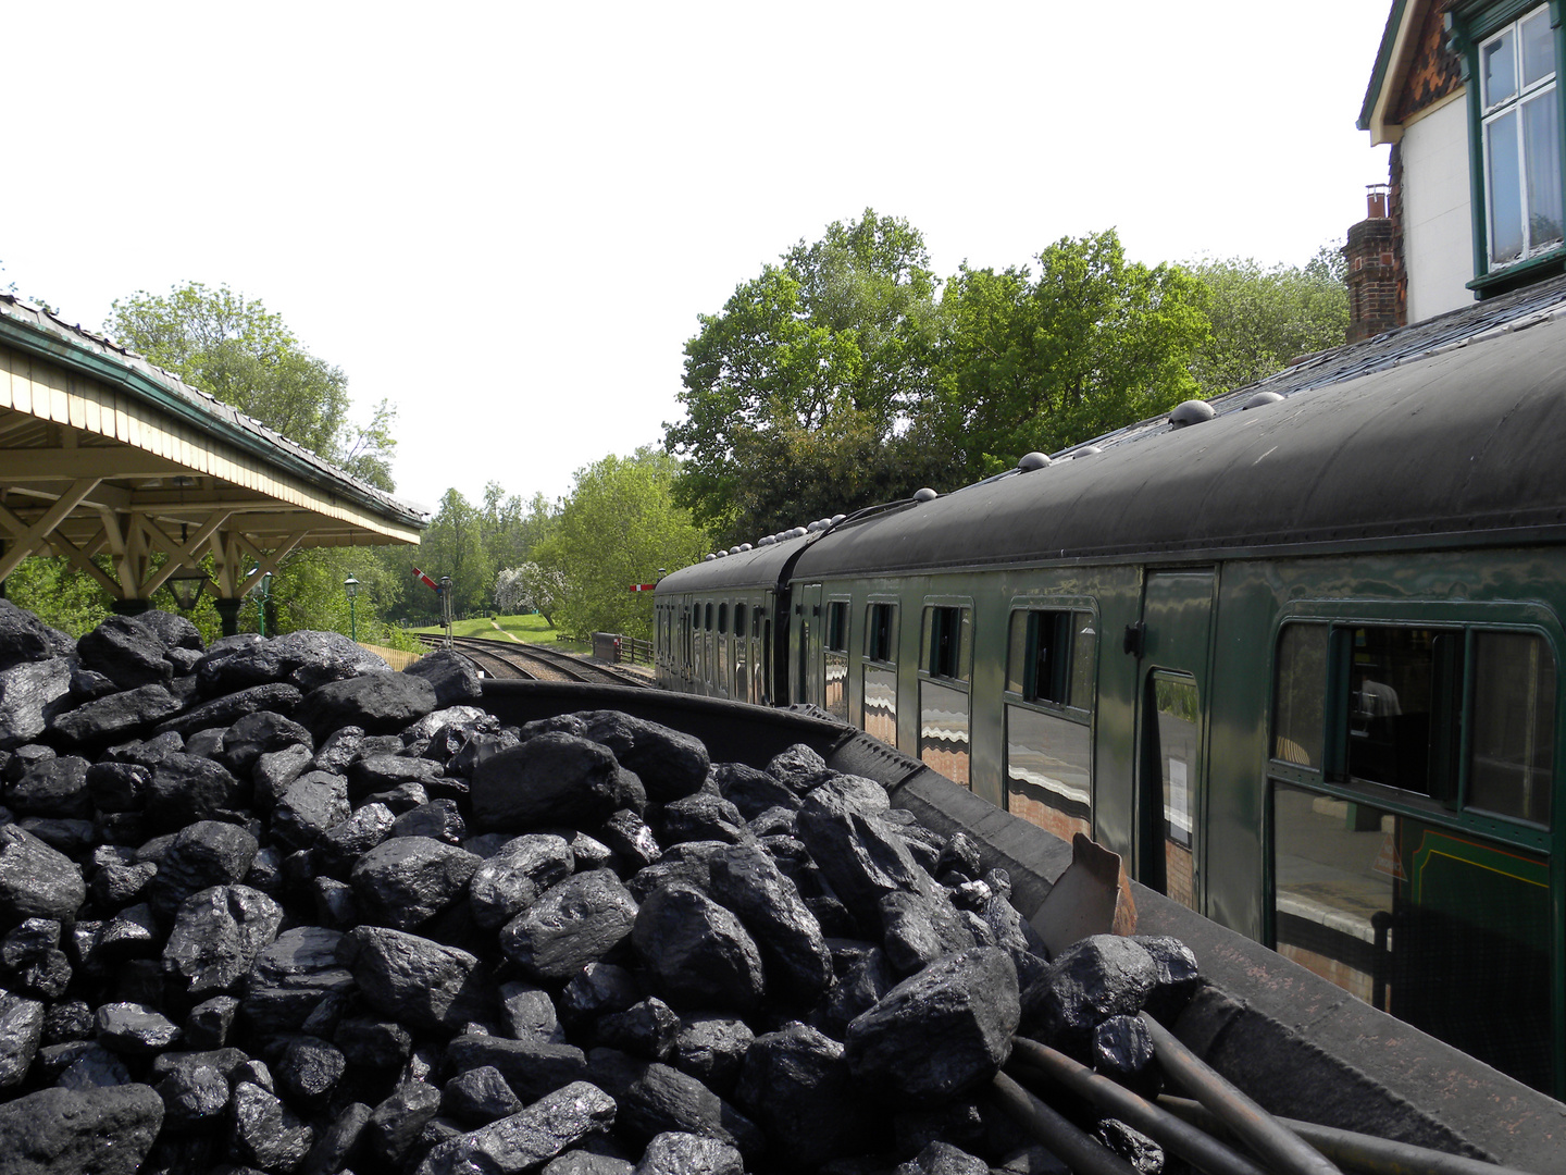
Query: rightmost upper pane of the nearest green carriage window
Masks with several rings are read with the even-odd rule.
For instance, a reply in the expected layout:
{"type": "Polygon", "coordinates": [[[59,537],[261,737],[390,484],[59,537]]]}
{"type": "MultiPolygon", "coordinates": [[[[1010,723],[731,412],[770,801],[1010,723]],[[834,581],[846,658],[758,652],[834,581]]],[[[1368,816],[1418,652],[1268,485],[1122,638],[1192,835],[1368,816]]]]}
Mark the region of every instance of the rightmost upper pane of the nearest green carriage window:
{"type": "Polygon", "coordinates": [[[1555,660],[1530,633],[1474,634],[1467,807],[1550,821],[1555,660]]]}

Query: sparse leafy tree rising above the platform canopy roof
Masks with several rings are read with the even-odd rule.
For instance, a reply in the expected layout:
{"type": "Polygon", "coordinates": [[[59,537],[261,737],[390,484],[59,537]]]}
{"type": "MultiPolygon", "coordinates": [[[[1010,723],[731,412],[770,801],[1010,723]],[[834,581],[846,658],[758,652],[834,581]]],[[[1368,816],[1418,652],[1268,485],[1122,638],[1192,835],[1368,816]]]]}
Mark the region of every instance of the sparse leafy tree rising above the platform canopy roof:
{"type": "Polygon", "coordinates": [[[200,282],[114,301],[103,329],[191,387],[381,489],[393,489],[395,409],[349,421],[348,376],[309,354],[260,299],[200,282]]]}

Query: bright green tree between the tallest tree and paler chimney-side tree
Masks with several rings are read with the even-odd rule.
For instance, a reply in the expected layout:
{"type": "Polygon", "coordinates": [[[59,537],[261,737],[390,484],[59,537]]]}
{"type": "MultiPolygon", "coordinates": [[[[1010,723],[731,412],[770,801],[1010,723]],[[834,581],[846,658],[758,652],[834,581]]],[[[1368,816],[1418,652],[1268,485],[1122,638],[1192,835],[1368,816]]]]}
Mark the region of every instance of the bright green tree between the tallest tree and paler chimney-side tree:
{"type": "Polygon", "coordinates": [[[946,285],[932,436],[969,476],[1010,468],[1196,395],[1207,340],[1201,287],[1179,266],[1128,262],[1113,229],[1063,237],[1029,266],[969,269],[946,285]]]}

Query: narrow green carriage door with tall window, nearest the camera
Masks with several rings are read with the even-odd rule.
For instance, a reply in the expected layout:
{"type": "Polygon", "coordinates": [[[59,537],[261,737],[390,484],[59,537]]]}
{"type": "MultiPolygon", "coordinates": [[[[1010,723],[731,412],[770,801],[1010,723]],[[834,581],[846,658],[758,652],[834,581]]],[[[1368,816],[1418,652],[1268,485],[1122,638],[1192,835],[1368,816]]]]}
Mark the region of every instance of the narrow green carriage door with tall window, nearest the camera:
{"type": "Polygon", "coordinates": [[[1211,570],[1148,572],[1142,625],[1126,633],[1137,677],[1137,880],[1201,910],[1206,846],[1211,570]]]}

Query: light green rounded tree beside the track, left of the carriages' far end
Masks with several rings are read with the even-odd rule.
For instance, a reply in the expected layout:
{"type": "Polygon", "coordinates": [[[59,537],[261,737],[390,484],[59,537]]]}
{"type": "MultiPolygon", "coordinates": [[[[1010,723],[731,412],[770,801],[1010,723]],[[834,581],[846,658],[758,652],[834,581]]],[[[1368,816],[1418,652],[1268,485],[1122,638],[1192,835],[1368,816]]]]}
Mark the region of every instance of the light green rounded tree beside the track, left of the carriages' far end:
{"type": "Polygon", "coordinates": [[[576,472],[570,497],[534,555],[565,584],[551,624],[590,631],[651,636],[651,603],[631,584],[659,567],[684,567],[708,550],[708,536],[675,504],[678,462],[653,448],[608,456],[576,472]]]}

